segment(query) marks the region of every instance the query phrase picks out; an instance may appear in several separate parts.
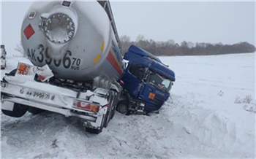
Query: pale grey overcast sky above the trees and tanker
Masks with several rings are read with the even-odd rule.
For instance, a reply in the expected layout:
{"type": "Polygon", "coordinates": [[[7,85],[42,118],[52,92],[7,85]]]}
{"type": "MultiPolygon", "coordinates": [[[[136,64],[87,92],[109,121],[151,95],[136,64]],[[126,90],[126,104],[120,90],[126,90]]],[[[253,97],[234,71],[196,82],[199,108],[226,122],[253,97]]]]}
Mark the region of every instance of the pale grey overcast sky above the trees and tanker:
{"type": "MultiPolygon", "coordinates": [[[[1,0],[0,0],[1,1],[1,0]]],[[[110,1],[119,36],[255,44],[255,1],[110,1]]],[[[15,47],[31,1],[1,1],[1,44],[15,47]]]]}

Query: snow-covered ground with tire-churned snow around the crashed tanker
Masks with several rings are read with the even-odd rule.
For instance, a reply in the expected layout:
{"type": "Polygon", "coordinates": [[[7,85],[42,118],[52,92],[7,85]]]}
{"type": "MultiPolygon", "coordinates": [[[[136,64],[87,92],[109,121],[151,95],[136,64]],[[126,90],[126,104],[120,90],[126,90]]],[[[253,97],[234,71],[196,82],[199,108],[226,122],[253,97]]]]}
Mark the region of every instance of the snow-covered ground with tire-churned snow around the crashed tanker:
{"type": "MultiPolygon", "coordinates": [[[[2,76],[29,62],[14,54],[2,76]]],[[[1,158],[255,158],[255,53],[160,59],[176,82],[159,114],[116,112],[94,135],[52,112],[1,113],[1,158]]]]}

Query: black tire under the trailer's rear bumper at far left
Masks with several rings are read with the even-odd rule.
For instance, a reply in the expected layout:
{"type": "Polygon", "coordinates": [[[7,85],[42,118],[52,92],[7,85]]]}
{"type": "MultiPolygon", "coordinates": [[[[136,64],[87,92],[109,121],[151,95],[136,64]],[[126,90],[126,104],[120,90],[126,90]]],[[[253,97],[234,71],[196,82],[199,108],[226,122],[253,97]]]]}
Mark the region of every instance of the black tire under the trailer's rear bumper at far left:
{"type": "Polygon", "coordinates": [[[29,106],[26,106],[23,104],[14,104],[12,111],[1,109],[1,112],[3,112],[4,115],[10,116],[10,117],[22,117],[23,115],[25,115],[28,109],[29,109],[29,106]]]}

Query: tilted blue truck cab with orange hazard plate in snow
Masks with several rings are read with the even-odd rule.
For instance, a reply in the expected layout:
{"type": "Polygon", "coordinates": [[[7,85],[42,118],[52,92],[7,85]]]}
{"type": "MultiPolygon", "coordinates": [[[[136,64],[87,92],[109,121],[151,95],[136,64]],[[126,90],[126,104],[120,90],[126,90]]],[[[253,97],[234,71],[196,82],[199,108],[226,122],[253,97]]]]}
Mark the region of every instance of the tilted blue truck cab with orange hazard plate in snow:
{"type": "Polygon", "coordinates": [[[129,61],[121,78],[124,91],[117,110],[123,114],[158,111],[170,96],[175,73],[159,58],[135,45],[124,59],[129,61]]]}

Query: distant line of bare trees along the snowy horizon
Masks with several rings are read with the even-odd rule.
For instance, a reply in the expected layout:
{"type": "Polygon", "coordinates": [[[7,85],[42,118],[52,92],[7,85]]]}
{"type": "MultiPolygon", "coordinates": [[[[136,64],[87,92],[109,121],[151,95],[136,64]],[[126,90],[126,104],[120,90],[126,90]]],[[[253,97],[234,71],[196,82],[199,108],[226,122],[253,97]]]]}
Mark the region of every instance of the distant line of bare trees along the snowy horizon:
{"type": "Polygon", "coordinates": [[[123,49],[123,53],[127,53],[127,50],[131,44],[135,44],[138,47],[147,50],[153,55],[219,55],[219,54],[231,54],[231,53],[254,53],[255,46],[248,42],[239,42],[236,44],[211,44],[211,43],[192,43],[181,42],[178,44],[174,40],[170,39],[167,42],[155,42],[153,39],[145,39],[143,35],[139,35],[136,42],[132,42],[129,36],[120,36],[120,42],[123,49]]]}

